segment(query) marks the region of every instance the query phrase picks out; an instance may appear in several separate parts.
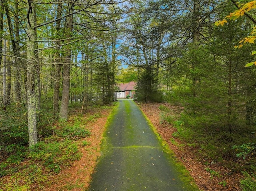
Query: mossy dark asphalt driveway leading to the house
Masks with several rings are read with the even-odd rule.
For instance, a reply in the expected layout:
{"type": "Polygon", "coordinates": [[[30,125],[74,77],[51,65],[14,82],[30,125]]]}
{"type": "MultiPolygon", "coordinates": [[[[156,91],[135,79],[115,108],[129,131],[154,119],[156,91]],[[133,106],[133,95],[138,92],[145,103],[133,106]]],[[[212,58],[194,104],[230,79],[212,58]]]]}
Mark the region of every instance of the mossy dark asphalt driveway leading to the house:
{"type": "Polygon", "coordinates": [[[89,191],[195,191],[133,100],[119,100],[89,191]]]}

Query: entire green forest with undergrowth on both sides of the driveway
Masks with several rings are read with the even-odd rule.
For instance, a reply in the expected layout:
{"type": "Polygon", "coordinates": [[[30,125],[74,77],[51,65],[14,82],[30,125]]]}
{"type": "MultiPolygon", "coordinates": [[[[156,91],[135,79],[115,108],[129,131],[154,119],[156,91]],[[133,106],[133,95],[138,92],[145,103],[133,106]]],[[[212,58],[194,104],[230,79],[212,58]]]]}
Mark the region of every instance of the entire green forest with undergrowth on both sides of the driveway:
{"type": "Polygon", "coordinates": [[[80,159],[81,124],[130,81],[136,102],[180,109],[159,107],[198,160],[256,190],[255,13],[250,0],[0,0],[0,190],[42,190],[80,159]]]}

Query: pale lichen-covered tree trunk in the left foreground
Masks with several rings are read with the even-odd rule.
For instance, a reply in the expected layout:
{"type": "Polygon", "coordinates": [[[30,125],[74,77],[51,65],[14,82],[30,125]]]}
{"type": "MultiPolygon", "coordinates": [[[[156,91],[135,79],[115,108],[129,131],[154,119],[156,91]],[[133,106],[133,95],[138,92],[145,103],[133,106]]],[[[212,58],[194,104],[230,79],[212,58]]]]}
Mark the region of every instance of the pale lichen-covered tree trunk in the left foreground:
{"type": "Polygon", "coordinates": [[[28,0],[28,14],[27,14],[27,105],[28,105],[28,138],[29,148],[32,150],[32,146],[37,143],[37,130],[36,130],[36,75],[37,60],[35,55],[36,42],[35,42],[35,30],[36,25],[36,10],[33,0],[28,0]]]}

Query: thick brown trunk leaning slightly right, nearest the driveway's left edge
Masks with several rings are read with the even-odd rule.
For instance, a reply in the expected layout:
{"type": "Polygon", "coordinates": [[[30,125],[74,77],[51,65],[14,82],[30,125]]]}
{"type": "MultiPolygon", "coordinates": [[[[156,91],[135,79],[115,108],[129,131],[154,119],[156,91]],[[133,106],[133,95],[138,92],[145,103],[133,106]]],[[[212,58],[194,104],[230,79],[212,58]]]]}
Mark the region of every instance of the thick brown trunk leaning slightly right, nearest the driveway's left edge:
{"type": "MultiPolygon", "coordinates": [[[[66,43],[71,41],[72,29],[73,29],[73,7],[74,3],[68,3],[68,14],[66,22],[66,43]]],[[[67,45],[64,52],[64,64],[63,64],[63,88],[62,98],[60,105],[60,120],[66,121],[68,119],[68,103],[69,103],[69,89],[70,89],[70,67],[71,67],[71,47],[67,45]]]]}

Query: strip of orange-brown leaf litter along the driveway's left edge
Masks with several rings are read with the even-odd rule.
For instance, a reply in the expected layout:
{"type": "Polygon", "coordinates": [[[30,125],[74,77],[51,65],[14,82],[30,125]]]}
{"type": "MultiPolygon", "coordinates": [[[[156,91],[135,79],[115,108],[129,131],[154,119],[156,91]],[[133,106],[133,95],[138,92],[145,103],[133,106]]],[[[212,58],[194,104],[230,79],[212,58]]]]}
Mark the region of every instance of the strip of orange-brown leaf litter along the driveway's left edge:
{"type": "MultiPolygon", "coordinates": [[[[88,110],[87,115],[93,115],[98,111],[88,110]]],[[[81,147],[82,158],[75,161],[71,167],[64,169],[58,175],[53,175],[50,179],[51,185],[44,191],[84,191],[89,186],[91,175],[100,156],[100,143],[104,126],[111,109],[101,110],[101,115],[96,121],[88,124],[91,136],[85,140],[90,143],[86,148],[81,147]]]]}

